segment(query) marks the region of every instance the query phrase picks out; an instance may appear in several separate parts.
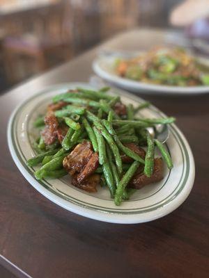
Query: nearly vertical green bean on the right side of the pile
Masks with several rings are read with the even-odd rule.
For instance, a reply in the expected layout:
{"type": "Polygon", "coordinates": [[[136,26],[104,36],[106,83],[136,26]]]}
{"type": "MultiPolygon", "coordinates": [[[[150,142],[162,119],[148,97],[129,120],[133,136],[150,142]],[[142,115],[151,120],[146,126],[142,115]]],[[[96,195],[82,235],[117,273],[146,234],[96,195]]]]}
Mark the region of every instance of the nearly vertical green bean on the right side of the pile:
{"type": "Polygon", "coordinates": [[[147,131],[147,152],[145,157],[144,174],[150,178],[154,170],[154,158],[155,158],[155,144],[150,133],[147,131]]]}

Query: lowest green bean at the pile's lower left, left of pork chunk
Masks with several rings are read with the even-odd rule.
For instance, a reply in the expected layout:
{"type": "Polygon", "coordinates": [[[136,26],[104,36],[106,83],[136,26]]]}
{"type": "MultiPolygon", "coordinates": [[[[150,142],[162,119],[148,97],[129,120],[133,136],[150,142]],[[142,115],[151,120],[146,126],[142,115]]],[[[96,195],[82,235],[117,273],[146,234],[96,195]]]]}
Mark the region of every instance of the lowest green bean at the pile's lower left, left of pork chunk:
{"type": "Polygon", "coordinates": [[[67,155],[68,154],[63,154],[61,156],[52,158],[51,161],[45,165],[42,165],[42,167],[40,167],[40,169],[35,172],[36,179],[42,179],[44,177],[43,175],[45,174],[45,171],[51,172],[54,170],[59,170],[63,166],[63,159],[67,155]]]}

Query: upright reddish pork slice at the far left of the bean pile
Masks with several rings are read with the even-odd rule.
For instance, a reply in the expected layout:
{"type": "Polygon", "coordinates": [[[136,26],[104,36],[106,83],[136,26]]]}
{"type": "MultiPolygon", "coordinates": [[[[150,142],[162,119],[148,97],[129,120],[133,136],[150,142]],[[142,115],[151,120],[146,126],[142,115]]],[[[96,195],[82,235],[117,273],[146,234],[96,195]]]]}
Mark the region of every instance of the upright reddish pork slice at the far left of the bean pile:
{"type": "Polygon", "coordinates": [[[41,133],[46,145],[51,145],[56,140],[56,131],[58,126],[59,122],[57,121],[53,111],[48,111],[45,116],[45,129],[41,133]]]}

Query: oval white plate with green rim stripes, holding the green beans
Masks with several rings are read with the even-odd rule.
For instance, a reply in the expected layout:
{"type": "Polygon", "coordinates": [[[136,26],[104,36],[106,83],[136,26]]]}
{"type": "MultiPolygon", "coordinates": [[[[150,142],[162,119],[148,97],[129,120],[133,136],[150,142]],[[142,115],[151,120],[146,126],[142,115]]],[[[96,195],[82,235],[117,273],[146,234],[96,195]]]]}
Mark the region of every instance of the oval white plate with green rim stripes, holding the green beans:
{"type": "MultiPolygon", "coordinates": [[[[139,223],[160,218],[180,206],[189,195],[194,182],[194,159],[187,140],[176,127],[171,125],[171,136],[167,148],[171,153],[174,167],[165,170],[164,179],[159,183],[137,190],[129,201],[115,206],[107,188],[98,187],[98,193],[88,194],[70,183],[70,176],[63,179],[36,181],[33,177],[36,167],[28,167],[27,159],[34,156],[31,146],[37,131],[33,121],[45,112],[53,95],[77,86],[92,88],[86,83],[70,83],[48,88],[24,101],[15,109],[8,124],[8,145],[17,167],[24,177],[42,195],[52,202],[88,218],[115,223],[139,223]]],[[[135,106],[143,99],[121,92],[125,104],[135,106]]],[[[164,117],[154,106],[141,112],[144,117],[164,117]]]]}

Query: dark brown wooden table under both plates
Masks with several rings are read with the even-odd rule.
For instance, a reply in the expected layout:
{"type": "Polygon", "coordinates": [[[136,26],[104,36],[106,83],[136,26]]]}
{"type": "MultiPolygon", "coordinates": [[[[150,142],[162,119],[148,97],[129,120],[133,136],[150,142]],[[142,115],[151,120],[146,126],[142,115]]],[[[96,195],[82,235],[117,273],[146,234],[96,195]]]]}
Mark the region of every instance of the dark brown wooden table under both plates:
{"type": "Polygon", "coordinates": [[[65,211],[30,186],[8,152],[8,117],[20,101],[47,85],[88,81],[102,48],[150,47],[164,35],[146,30],[118,35],[0,98],[0,262],[17,277],[208,277],[209,95],[140,94],[178,119],[196,163],[188,199],[153,222],[109,224],[65,211]]]}

